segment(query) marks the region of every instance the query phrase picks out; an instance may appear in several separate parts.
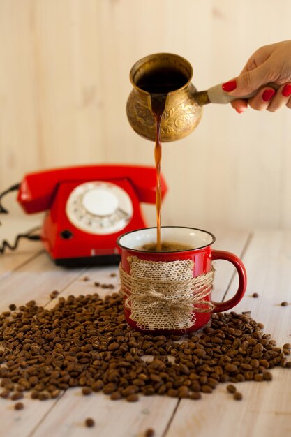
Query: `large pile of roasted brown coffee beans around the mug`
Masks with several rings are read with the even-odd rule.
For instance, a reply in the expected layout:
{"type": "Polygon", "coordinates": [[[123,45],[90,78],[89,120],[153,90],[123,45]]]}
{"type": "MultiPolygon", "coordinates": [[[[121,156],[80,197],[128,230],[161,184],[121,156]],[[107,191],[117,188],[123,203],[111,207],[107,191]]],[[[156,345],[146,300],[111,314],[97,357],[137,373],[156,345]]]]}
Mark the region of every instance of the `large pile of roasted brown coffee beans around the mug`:
{"type": "Polygon", "coordinates": [[[291,345],[278,348],[249,312],[213,314],[202,332],[180,337],[130,328],[116,292],[57,302],[53,309],[12,304],[1,314],[1,397],[29,391],[45,401],[82,387],[86,396],[102,391],[131,402],[140,394],[200,399],[219,383],[269,381],[269,369],[291,367],[291,345]]]}

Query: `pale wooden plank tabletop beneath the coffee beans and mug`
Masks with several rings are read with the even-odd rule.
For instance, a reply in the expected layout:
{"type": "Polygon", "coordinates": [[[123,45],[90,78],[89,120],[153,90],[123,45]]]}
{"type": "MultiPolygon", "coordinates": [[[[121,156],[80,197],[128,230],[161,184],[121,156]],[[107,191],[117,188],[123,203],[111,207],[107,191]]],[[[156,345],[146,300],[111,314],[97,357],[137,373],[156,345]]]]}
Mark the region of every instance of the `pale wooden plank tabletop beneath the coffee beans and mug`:
{"type": "MultiPolygon", "coordinates": [[[[7,235],[11,239],[19,222],[4,224],[0,240],[7,235]]],[[[291,232],[211,231],[216,234],[216,249],[236,253],[246,266],[246,295],[234,311],[251,310],[251,316],[264,324],[264,332],[271,334],[278,346],[291,343],[291,232]],[[253,292],[258,293],[257,299],[253,292]],[[281,306],[283,301],[289,305],[281,306]]],[[[91,292],[105,295],[108,290],[97,289],[94,281],[114,282],[118,287],[119,278],[110,277],[112,272],[117,272],[117,267],[56,267],[40,242],[22,242],[17,251],[0,255],[0,310],[31,299],[50,308],[56,302],[50,299],[52,290],[59,290],[64,297],[91,292]],[[84,281],[84,276],[89,281],[84,281]]],[[[236,276],[227,262],[216,262],[215,300],[234,293],[236,276]]],[[[136,403],[110,401],[103,393],[84,397],[80,387],[48,401],[32,400],[25,394],[25,408],[20,411],[14,410],[13,401],[0,399],[0,436],[142,437],[148,428],[155,430],[156,437],[291,436],[291,370],[271,372],[274,378],[270,382],[238,383],[243,394],[239,402],[227,393],[225,384],[203,394],[200,401],[158,395],[142,396],[136,403]],[[84,427],[86,417],[94,418],[95,427],[84,427]]]]}

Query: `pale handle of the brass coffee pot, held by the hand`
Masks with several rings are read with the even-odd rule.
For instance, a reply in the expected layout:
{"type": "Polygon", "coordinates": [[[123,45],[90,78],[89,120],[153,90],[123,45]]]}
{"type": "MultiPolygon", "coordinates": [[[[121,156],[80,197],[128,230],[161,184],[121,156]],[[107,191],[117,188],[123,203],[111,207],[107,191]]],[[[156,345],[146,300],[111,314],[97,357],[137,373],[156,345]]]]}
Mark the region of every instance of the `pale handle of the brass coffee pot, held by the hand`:
{"type": "Polygon", "coordinates": [[[251,94],[248,94],[248,96],[230,96],[227,92],[223,91],[222,86],[223,84],[215,85],[215,87],[209,88],[207,91],[198,91],[195,94],[195,101],[202,106],[207,105],[207,103],[221,103],[222,105],[225,105],[226,103],[230,103],[236,98],[251,98],[255,96],[255,94],[260,91],[260,89],[264,87],[271,87],[277,91],[281,85],[275,84],[274,82],[269,82],[268,84],[264,84],[262,87],[256,89],[251,94]]]}

